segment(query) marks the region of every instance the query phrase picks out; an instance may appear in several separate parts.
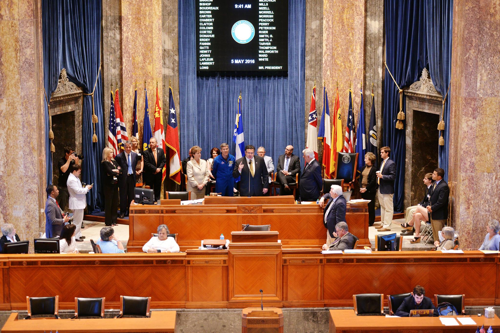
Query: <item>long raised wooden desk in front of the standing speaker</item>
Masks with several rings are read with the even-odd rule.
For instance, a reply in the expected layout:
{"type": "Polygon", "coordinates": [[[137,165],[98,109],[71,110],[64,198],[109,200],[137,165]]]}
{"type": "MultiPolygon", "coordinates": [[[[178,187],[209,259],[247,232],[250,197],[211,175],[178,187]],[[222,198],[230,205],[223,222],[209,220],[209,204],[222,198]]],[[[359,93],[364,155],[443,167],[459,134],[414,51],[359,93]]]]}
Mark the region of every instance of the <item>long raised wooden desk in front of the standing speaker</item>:
{"type": "MultiPolygon", "coordinates": [[[[256,198],[260,200],[261,197],[256,198]]],[[[359,239],[368,238],[366,204],[347,205],[345,218],[349,232],[359,239]]],[[[130,206],[127,252],[141,252],[151,233],[162,223],[168,226],[170,233],[179,234],[181,251],[198,247],[203,239],[217,239],[220,234],[229,239],[232,231],[241,230],[241,225],[247,223],[270,224],[271,231],[279,233],[285,247],[319,249],[326,242],[323,208],[316,204],[130,206]]]]}

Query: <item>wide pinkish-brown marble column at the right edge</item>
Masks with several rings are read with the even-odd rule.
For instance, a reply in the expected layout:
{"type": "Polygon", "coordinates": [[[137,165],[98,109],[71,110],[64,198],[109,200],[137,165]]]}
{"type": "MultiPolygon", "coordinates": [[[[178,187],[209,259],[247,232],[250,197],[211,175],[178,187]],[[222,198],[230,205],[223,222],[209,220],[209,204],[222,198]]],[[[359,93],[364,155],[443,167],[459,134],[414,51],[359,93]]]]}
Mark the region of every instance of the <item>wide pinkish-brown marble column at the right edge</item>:
{"type": "Polygon", "coordinates": [[[500,7],[455,0],[451,53],[449,186],[462,249],[477,249],[500,220],[500,7]]]}

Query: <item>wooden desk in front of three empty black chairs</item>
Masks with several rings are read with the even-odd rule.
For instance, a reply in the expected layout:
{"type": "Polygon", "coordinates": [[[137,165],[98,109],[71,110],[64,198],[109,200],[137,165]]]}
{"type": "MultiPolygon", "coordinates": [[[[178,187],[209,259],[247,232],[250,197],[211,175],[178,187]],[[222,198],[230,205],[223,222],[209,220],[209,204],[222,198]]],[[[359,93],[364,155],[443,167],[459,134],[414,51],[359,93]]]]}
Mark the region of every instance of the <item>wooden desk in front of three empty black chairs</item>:
{"type": "Polygon", "coordinates": [[[10,314],[1,333],[175,332],[175,311],[152,311],[151,318],[31,319],[10,314]]]}

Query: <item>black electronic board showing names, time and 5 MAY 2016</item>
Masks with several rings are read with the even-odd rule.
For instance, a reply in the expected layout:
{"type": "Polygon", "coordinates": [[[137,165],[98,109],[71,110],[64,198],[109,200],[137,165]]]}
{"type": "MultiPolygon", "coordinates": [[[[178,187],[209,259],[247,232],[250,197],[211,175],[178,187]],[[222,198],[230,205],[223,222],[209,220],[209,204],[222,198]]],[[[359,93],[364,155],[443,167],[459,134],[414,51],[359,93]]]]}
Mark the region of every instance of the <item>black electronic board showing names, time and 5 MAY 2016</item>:
{"type": "Polygon", "coordinates": [[[196,70],[288,71],[288,0],[197,0],[196,70]]]}

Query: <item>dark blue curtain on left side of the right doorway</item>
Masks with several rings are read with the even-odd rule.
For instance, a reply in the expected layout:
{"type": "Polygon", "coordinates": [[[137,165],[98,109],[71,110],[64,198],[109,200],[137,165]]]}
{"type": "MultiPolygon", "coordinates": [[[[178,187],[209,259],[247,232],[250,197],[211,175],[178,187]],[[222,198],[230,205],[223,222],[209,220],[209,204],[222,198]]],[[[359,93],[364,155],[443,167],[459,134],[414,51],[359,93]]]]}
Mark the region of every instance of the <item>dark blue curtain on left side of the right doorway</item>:
{"type": "MultiPolygon", "coordinates": [[[[385,58],[388,68],[401,88],[416,81],[422,68],[428,62],[427,32],[423,10],[424,1],[385,0],[385,58]]],[[[402,106],[405,112],[404,97],[402,106]]],[[[396,163],[393,202],[394,210],[402,212],[406,129],[395,128],[398,112],[399,93],[385,69],[382,144],[390,147],[390,158],[396,163]]],[[[405,121],[403,123],[406,126],[405,121]]]]}

